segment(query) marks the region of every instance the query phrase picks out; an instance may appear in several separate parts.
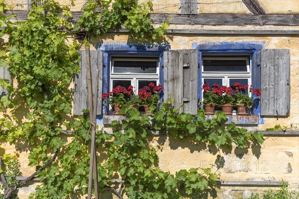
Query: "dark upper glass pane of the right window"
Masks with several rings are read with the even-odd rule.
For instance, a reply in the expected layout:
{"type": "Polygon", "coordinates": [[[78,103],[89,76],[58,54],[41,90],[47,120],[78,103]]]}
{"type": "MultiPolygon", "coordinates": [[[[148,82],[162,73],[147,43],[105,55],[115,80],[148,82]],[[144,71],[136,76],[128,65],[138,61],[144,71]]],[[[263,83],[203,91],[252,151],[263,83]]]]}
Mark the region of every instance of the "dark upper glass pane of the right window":
{"type": "Polygon", "coordinates": [[[204,59],[204,72],[248,72],[246,60],[204,59]]]}

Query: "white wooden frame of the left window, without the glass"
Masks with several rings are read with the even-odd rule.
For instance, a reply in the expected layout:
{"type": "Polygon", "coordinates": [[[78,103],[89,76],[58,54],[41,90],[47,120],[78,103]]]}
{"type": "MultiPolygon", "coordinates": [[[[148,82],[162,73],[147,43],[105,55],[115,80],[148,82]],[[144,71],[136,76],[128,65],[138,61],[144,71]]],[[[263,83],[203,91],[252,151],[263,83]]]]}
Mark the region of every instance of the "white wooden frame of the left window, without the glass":
{"type": "MultiPolygon", "coordinates": [[[[131,57],[131,55],[130,55],[131,57]]],[[[134,87],[133,91],[135,95],[138,95],[138,87],[139,81],[152,81],[156,82],[156,85],[159,84],[159,77],[160,77],[160,64],[159,64],[159,57],[155,56],[132,56],[136,58],[126,58],[126,56],[118,56],[115,55],[114,57],[110,57],[110,92],[112,91],[113,87],[113,80],[128,80],[131,81],[131,86],[134,87]],[[142,58],[142,59],[141,59],[142,58]],[[150,59],[149,59],[150,58],[150,59]],[[152,61],[153,59],[156,60],[157,68],[156,73],[113,73],[114,70],[114,61],[130,61],[130,60],[142,60],[142,61],[152,61]]]]}

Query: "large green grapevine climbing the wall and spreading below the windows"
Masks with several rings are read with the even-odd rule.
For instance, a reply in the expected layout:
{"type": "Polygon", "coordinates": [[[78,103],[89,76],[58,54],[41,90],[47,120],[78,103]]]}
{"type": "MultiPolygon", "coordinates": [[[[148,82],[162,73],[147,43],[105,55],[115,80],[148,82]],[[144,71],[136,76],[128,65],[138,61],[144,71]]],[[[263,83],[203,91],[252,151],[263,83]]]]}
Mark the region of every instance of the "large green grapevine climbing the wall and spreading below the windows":
{"type": "MultiPolygon", "coordinates": [[[[42,185],[30,195],[31,199],[64,199],[87,193],[90,160],[89,119],[71,115],[73,77],[80,72],[78,49],[89,45],[93,36],[109,29],[126,28],[137,41],[162,41],[167,22],[154,28],[149,12],[151,2],[138,4],[136,0],[88,1],[76,24],[72,21],[70,1],[59,6],[54,0],[45,0],[36,6],[26,21],[6,17],[9,9],[0,0],[0,65],[9,65],[13,84],[0,80],[8,92],[0,99],[0,139],[15,146],[19,153],[29,152],[29,166],[36,172],[19,181],[18,154],[4,151],[0,155],[1,198],[15,198],[15,191],[38,177],[42,185]],[[78,41],[77,39],[80,39],[78,41]],[[81,40],[82,39],[82,40],[81,40]],[[15,82],[17,83],[17,86],[15,82]],[[72,139],[61,136],[64,129],[72,129],[72,139]]],[[[192,137],[195,142],[211,145],[249,147],[263,142],[263,134],[225,124],[226,116],[217,113],[206,120],[204,111],[196,115],[178,113],[165,102],[159,111],[140,116],[130,107],[122,109],[127,118],[111,125],[113,133],[98,131],[97,145],[101,152],[98,162],[99,186],[120,199],[179,198],[195,193],[205,194],[216,186],[219,175],[212,169],[192,168],[175,174],[162,171],[158,165],[157,145],[154,147],[148,131],[165,131],[180,139],[192,137]],[[119,189],[112,181],[120,178],[119,189]]],[[[4,147],[3,147],[4,148],[4,147]]]]}

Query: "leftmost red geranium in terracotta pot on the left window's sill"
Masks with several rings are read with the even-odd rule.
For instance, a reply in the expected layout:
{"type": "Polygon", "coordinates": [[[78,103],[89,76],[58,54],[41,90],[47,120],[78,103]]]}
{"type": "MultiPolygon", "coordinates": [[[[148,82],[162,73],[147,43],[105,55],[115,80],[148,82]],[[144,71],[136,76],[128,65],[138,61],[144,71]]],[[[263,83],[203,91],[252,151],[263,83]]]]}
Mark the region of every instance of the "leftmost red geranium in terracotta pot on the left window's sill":
{"type": "Polygon", "coordinates": [[[112,92],[104,93],[102,99],[107,100],[107,102],[113,106],[115,115],[119,115],[120,109],[128,103],[132,94],[134,94],[132,86],[128,89],[122,86],[117,86],[112,92]]]}

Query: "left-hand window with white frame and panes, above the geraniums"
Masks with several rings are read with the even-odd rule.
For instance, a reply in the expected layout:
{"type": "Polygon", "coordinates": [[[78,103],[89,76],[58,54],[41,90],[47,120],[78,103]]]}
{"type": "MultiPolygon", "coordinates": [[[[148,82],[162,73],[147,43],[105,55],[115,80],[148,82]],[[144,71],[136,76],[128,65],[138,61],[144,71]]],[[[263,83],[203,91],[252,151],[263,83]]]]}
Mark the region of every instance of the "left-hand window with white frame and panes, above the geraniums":
{"type": "Polygon", "coordinates": [[[138,90],[152,82],[159,84],[159,59],[151,56],[114,56],[111,57],[110,91],[116,86],[138,90]]]}

